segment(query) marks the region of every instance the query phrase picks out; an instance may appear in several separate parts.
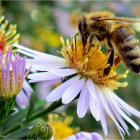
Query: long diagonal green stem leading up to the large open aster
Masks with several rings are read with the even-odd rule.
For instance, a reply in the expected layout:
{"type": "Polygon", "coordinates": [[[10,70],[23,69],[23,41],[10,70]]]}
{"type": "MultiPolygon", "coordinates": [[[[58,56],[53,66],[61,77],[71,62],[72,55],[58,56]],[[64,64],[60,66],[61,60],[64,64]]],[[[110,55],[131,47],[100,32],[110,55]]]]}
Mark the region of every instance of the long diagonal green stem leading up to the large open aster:
{"type": "Polygon", "coordinates": [[[11,133],[11,132],[14,132],[14,131],[20,129],[22,124],[25,125],[25,124],[27,124],[27,123],[29,123],[29,122],[35,120],[35,119],[38,118],[38,117],[41,117],[41,116],[43,116],[43,115],[46,115],[47,113],[49,113],[49,112],[51,112],[51,111],[57,109],[58,107],[60,107],[60,106],[62,106],[62,105],[63,105],[63,104],[61,103],[61,100],[52,103],[48,108],[46,108],[46,109],[44,109],[44,110],[42,110],[42,111],[40,111],[40,112],[34,114],[31,118],[28,118],[27,120],[24,120],[24,121],[21,122],[20,124],[17,124],[16,126],[13,126],[10,130],[6,131],[6,132],[4,133],[4,135],[7,135],[7,134],[9,134],[9,133],[11,133]]]}

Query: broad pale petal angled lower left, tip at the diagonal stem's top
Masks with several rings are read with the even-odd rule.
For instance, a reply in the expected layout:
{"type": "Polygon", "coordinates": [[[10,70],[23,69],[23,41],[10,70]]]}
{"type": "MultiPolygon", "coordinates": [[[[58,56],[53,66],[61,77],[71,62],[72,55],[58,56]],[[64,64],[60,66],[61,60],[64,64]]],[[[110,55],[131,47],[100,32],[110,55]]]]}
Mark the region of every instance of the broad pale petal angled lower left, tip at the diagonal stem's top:
{"type": "Polygon", "coordinates": [[[70,87],[66,89],[62,96],[62,103],[63,104],[68,104],[70,103],[81,91],[83,85],[84,85],[85,80],[80,79],[80,80],[75,80],[70,87]]]}

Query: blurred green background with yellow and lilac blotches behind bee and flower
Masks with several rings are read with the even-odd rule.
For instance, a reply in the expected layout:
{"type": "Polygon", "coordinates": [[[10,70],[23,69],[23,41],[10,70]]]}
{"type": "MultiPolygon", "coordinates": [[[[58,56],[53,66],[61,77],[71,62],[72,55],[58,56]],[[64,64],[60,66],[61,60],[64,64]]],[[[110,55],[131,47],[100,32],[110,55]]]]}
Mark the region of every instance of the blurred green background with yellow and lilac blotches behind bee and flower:
{"type": "MultiPolygon", "coordinates": [[[[140,17],[140,2],[120,1],[2,1],[0,14],[4,15],[10,23],[17,24],[18,32],[21,34],[20,44],[32,49],[57,54],[61,49],[60,36],[70,38],[76,33],[77,19],[85,12],[108,10],[122,17],[140,17]]],[[[132,27],[137,37],[140,38],[140,24],[132,27]]],[[[123,73],[126,68],[121,65],[118,71],[123,73]]],[[[140,110],[140,76],[129,72],[126,88],[115,91],[122,99],[133,107],[140,110]]],[[[45,99],[51,90],[46,84],[32,85],[37,91],[38,99],[45,99]],[[42,88],[43,87],[43,88],[42,88]],[[42,90],[43,89],[43,90],[42,90]]],[[[57,112],[66,111],[68,115],[74,116],[72,126],[80,127],[83,131],[96,131],[103,137],[100,123],[96,122],[90,113],[83,119],[79,119],[76,114],[76,104],[71,103],[60,108],[57,112]]],[[[134,117],[133,117],[134,118],[134,117]]],[[[138,124],[140,120],[134,118],[138,124]]],[[[129,124],[128,124],[129,125],[129,124]]],[[[119,139],[112,120],[108,118],[110,139],[119,139]]],[[[136,132],[130,125],[129,139],[140,139],[140,131],[136,132]]]]}

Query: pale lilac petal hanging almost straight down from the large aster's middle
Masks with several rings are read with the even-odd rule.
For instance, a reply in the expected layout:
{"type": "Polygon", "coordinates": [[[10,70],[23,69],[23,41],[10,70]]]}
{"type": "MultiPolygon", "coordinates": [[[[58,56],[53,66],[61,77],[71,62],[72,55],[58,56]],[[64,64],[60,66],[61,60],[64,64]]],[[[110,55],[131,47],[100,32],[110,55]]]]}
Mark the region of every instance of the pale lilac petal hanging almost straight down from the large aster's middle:
{"type": "Polygon", "coordinates": [[[88,106],[89,106],[89,92],[86,87],[86,84],[84,84],[77,104],[77,114],[79,118],[85,116],[88,110],[88,106]]]}

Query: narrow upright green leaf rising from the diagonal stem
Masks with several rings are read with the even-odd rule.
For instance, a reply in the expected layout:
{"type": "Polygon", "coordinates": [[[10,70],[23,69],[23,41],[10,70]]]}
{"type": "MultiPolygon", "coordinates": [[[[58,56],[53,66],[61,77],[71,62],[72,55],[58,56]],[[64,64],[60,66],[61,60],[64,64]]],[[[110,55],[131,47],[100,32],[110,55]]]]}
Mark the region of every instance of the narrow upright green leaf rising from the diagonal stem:
{"type": "Polygon", "coordinates": [[[31,97],[30,97],[30,104],[29,104],[27,116],[26,116],[27,120],[28,120],[28,118],[30,118],[32,116],[32,114],[34,112],[34,107],[35,107],[36,101],[37,101],[37,95],[35,93],[32,93],[31,97]]]}

